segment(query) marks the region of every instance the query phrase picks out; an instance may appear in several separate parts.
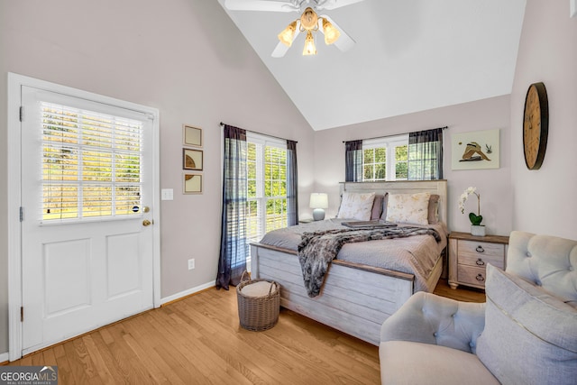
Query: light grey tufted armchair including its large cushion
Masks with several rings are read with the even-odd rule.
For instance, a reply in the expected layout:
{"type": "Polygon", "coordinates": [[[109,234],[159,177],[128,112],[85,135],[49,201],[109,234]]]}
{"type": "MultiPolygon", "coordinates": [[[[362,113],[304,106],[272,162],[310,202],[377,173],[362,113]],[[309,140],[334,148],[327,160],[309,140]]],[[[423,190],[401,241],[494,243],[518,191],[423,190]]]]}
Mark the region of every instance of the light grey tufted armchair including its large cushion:
{"type": "Polygon", "coordinates": [[[487,302],[417,292],[382,325],[383,384],[577,384],[577,241],[512,232],[487,302]]]}

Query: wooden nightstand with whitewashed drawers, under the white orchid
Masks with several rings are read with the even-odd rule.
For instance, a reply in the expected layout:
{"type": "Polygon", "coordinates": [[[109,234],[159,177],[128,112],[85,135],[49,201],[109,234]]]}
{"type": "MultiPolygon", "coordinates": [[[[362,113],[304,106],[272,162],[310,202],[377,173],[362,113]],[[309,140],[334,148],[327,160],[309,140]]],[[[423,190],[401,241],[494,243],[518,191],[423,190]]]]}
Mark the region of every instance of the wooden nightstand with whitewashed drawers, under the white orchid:
{"type": "Polygon", "coordinates": [[[449,286],[485,289],[487,263],[505,269],[508,236],[449,234],[449,286]]]}

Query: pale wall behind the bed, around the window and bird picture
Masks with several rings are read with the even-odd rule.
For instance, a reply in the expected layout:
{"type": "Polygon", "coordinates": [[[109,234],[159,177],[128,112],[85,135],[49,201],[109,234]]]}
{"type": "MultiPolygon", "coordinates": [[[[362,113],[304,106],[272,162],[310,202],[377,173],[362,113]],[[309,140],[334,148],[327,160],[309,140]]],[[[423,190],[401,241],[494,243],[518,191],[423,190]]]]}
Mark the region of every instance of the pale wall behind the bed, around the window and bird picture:
{"type": "MultiPolygon", "coordinates": [[[[355,124],[315,135],[315,190],[328,192],[327,215],[336,215],[339,188],[344,180],[343,141],[367,139],[395,133],[409,133],[430,128],[444,131],[444,179],[448,180],[448,225],[453,231],[470,231],[468,212],[461,214],[458,198],[465,188],[474,186],[481,193],[481,215],[488,234],[508,234],[512,228],[512,186],[509,97],[499,96],[463,105],[452,105],[415,114],[401,115],[366,124],[355,124]],[[454,133],[499,129],[500,168],[498,170],[451,170],[451,137],[454,133]]],[[[459,156],[462,154],[458,154],[459,156]]],[[[468,202],[474,211],[474,204],[468,202]]]]}

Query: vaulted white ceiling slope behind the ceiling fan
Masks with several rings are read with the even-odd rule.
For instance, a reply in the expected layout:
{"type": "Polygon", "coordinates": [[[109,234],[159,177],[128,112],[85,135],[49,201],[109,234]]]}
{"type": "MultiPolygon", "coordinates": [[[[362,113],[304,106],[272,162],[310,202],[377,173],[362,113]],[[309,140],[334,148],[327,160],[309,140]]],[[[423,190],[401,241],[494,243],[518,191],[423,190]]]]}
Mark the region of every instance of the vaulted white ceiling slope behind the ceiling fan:
{"type": "MultiPolygon", "coordinates": [[[[224,0],[218,0],[224,7],[224,0]]],[[[289,0],[287,0],[289,1],[289,0]]],[[[229,11],[314,130],[510,94],[526,0],[364,0],[328,14],[356,41],[342,52],[300,33],[270,53],[298,13],[229,11]]]]}

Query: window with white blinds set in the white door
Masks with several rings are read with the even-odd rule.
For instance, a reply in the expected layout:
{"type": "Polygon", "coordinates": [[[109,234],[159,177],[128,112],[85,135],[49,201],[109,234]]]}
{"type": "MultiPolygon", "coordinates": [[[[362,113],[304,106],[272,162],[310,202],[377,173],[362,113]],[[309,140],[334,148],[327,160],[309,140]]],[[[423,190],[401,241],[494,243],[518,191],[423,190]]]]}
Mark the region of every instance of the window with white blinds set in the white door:
{"type": "Polygon", "coordinates": [[[41,129],[42,221],[141,213],[142,122],[41,102],[41,129]]]}

